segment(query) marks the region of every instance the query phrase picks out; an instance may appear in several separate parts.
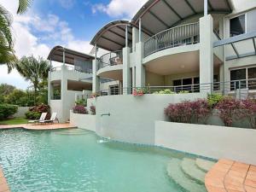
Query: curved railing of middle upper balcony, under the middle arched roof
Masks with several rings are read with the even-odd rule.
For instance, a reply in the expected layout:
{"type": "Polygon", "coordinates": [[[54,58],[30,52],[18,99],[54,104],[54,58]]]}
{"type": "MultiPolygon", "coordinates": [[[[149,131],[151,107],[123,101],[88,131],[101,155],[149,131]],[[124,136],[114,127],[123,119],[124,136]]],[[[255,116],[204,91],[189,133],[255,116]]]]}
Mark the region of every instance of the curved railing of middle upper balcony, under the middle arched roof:
{"type": "Polygon", "coordinates": [[[99,59],[99,68],[123,64],[123,52],[121,50],[102,55],[99,59]]]}

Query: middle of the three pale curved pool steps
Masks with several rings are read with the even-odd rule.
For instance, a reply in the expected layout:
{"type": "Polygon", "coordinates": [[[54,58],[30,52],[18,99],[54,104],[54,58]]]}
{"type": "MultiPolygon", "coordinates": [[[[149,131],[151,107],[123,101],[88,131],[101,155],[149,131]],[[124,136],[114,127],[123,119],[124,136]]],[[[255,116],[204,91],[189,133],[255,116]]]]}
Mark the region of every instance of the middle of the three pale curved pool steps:
{"type": "Polygon", "coordinates": [[[181,168],[182,171],[191,179],[201,184],[205,183],[206,172],[201,171],[201,169],[195,165],[195,160],[183,158],[181,168]]]}

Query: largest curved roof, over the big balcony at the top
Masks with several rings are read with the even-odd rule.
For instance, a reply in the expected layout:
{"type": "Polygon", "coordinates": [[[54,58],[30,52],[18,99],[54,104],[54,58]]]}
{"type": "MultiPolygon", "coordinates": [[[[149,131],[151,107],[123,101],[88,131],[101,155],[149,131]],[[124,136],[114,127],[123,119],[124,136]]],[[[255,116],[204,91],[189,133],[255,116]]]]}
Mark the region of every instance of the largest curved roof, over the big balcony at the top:
{"type": "MultiPolygon", "coordinates": [[[[148,0],[133,17],[131,23],[137,26],[141,18],[143,30],[154,35],[203,12],[204,0],[148,0]]],[[[229,14],[232,12],[232,7],[229,0],[208,0],[208,12],[229,14]]]]}

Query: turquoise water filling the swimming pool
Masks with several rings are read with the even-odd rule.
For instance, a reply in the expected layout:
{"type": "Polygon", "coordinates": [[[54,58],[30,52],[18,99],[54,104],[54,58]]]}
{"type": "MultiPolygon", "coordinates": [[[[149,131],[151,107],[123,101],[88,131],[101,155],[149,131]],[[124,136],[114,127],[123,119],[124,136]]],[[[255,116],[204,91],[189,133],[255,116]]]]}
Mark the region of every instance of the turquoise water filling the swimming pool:
{"type": "Polygon", "coordinates": [[[178,192],[166,166],[183,157],[90,131],[0,131],[0,165],[13,192],[178,192]]]}

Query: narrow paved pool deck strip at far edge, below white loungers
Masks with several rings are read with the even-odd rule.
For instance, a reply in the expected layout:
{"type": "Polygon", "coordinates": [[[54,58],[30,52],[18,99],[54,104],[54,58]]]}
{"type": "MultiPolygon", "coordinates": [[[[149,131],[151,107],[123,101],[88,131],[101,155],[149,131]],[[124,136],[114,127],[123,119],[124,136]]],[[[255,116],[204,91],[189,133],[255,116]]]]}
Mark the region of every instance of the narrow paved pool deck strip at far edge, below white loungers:
{"type": "Polygon", "coordinates": [[[15,129],[15,128],[23,128],[26,130],[58,130],[58,129],[71,129],[77,128],[76,126],[70,124],[20,124],[20,125],[0,125],[1,129],[15,129]]]}

